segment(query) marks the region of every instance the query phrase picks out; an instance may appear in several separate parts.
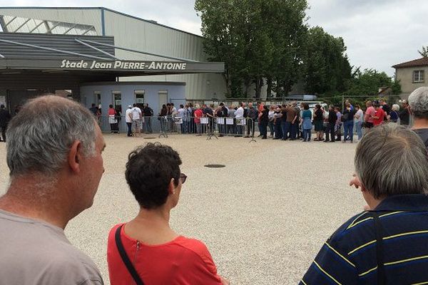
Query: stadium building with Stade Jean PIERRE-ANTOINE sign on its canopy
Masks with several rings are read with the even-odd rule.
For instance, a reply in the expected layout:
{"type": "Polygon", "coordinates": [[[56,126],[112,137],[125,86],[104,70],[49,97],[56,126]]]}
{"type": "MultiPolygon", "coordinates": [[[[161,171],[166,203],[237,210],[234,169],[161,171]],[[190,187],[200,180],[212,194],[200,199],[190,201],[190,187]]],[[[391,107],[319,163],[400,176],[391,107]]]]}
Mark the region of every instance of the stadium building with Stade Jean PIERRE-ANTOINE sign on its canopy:
{"type": "Polygon", "coordinates": [[[223,63],[203,38],[118,11],[0,7],[0,103],[56,93],[125,112],[148,103],[223,98],[223,63]]]}

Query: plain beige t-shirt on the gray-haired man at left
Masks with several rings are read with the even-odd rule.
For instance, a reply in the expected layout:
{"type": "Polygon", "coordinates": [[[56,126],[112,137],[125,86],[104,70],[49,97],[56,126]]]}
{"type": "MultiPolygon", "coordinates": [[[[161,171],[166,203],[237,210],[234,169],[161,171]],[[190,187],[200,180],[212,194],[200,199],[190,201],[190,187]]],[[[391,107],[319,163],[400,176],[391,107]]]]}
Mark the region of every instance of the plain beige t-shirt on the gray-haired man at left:
{"type": "Polygon", "coordinates": [[[0,210],[0,283],[103,285],[103,279],[63,229],[0,210]]]}

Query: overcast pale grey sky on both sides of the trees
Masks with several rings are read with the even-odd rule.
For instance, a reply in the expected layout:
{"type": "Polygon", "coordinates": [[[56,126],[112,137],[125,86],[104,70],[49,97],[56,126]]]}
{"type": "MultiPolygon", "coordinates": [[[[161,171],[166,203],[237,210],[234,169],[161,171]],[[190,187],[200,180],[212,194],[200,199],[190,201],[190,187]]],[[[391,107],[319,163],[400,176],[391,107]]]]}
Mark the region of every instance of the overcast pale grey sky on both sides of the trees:
{"type": "MultiPolygon", "coordinates": [[[[428,1],[309,0],[310,26],[341,36],[352,66],[394,74],[394,64],[428,46],[428,1]]],[[[0,0],[0,6],[104,6],[200,35],[194,0],[0,0]]]]}

